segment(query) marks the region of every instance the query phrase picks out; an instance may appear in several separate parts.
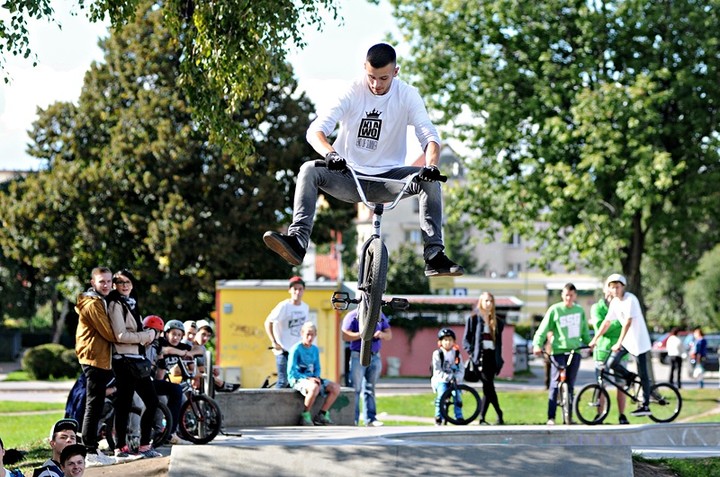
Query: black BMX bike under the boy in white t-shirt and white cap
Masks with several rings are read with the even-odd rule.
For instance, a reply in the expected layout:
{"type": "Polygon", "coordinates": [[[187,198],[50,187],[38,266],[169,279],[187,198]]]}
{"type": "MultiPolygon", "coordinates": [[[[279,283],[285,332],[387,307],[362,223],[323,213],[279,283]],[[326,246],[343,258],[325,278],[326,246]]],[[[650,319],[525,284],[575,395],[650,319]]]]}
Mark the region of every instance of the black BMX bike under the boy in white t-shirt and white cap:
{"type": "MultiPolygon", "coordinates": [[[[643,402],[642,385],[637,374],[632,373],[626,381],[611,373],[605,365],[600,368],[597,382],[584,386],[577,395],[575,412],[585,424],[602,424],[610,412],[610,395],[606,384],[615,386],[617,392],[628,396],[634,403],[643,402]]],[[[656,383],[650,388],[650,419],[655,422],[671,422],[682,409],[680,391],[670,383],[656,383]]]]}

